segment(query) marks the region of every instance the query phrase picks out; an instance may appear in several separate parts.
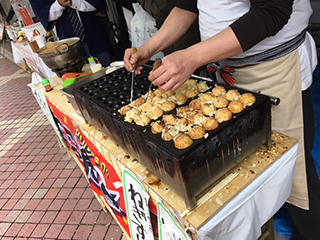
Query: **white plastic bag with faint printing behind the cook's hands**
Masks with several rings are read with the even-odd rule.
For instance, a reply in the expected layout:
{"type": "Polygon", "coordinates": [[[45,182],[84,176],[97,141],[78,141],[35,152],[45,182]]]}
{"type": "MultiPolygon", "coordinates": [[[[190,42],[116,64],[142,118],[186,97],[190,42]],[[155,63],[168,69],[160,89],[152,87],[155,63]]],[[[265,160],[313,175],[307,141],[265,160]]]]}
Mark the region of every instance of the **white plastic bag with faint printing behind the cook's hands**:
{"type": "MultiPolygon", "coordinates": [[[[157,31],[155,19],[147,13],[139,3],[132,4],[135,14],[131,19],[132,47],[144,45],[157,31]]],[[[163,52],[151,57],[151,60],[163,58],[163,52]]]]}

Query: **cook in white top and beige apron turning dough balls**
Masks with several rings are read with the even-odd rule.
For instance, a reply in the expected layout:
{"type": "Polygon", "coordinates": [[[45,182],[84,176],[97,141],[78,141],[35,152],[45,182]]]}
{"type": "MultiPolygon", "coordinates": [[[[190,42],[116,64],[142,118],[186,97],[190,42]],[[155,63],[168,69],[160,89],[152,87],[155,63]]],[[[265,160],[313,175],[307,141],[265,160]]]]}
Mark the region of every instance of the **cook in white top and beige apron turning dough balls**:
{"type": "Polygon", "coordinates": [[[208,66],[216,73],[234,70],[226,79],[229,84],[235,79],[234,87],[281,99],[272,106],[272,129],[299,140],[287,201],[294,240],[320,236],[320,182],[311,156],[315,127],[310,85],[317,56],[305,30],[311,13],[308,0],[178,0],[154,37],[134,55],[128,49],[124,56],[126,69],[136,63],[139,73],[142,64],[177,41],[198,16],[201,42],[164,57],[149,76],[153,85],[175,90],[195,69],[208,66]]]}

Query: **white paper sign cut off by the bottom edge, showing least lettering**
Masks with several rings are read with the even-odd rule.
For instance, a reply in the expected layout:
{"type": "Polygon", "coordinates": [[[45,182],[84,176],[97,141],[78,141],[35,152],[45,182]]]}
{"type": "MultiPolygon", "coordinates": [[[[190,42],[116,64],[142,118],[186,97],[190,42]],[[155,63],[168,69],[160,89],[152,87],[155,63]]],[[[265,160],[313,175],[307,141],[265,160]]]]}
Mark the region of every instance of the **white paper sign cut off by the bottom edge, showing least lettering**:
{"type": "Polygon", "coordinates": [[[174,220],[168,209],[157,201],[160,240],[190,240],[183,228],[174,220]]]}

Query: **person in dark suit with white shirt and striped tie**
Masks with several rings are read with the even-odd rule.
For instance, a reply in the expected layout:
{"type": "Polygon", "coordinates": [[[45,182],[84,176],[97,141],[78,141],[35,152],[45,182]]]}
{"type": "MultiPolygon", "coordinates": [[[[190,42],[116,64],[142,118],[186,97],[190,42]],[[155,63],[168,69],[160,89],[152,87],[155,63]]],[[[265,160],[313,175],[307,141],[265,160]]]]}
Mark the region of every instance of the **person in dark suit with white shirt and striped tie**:
{"type": "Polygon", "coordinates": [[[111,62],[109,36],[103,18],[104,0],[30,0],[32,8],[46,29],[56,27],[59,39],[79,37],[84,58],[98,58],[102,66],[111,62]]]}

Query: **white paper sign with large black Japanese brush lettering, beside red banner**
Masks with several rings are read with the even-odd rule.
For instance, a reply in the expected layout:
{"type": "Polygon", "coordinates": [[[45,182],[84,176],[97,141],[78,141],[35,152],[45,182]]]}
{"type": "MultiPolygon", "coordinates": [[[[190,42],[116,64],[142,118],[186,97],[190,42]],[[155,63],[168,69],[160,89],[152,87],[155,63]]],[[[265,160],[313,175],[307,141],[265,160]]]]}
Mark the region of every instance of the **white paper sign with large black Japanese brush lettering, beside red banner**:
{"type": "Polygon", "coordinates": [[[141,182],[127,169],[122,172],[123,192],[132,240],[153,240],[149,194],[141,182]]]}

